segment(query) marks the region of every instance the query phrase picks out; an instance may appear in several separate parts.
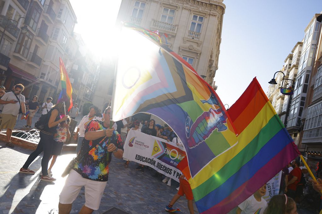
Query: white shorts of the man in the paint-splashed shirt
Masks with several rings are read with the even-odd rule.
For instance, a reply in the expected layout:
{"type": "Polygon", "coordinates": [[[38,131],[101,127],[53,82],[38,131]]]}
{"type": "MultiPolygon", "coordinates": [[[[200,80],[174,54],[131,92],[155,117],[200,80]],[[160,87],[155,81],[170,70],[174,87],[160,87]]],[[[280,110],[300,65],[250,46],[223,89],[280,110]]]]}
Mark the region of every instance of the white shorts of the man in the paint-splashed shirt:
{"type": "Polygon", "coordinates": [[[92,210],[98,210],[106,184],[107,181],[92,181],[83,178],[75,170],[71,170],[59,195],[59,202],[61,204],[73,203],[80,193],[81,187],[85,186],[85,206],[92,210]]]}

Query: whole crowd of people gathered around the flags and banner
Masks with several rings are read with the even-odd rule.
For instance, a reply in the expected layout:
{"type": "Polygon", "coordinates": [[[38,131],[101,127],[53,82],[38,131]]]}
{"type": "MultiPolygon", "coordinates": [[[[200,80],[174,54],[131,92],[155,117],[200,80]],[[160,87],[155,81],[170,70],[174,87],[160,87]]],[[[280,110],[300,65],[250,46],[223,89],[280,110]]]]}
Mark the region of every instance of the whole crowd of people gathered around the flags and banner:
{"type": "MultiPolygon", "coordinates": [[[[64,142],[71,138],[69,132],[69,122],[78,115],[79,109],[75,104],[69,116],[64,113],[64,103],[59,102],[52,104],[52,98],[48,97],[46,102],[39,105],[38,97],[33,96],[32,100],[27,102],[21,94],[24,90],[22,84],[14,86],[13,91],[5,92],[5,88],[0,86],[0,110],[1,123],[0,128],[6,128],[6,145],[14,147],[10,141],[12,130],[15,126],[18,114],[22,114],[24,118],[28,111],[28,119],[26,128],[31,127],[32,117],[40,109],[45,119],[44,127],[40,130],[40,141],[35,151],[33,151],[24,165],[20,169],[20,173],[35,174],[29,168],[33,160],[43,152],[41,162],[41,180],[53,182],[56,179],[52,177],[52,167],[62,152],[64,142]],[[49,161],[52,159],[50,166],[49,161]]],[[[66,103],[68,109],[69,103],[66,103]]],[[[59,212],[69,213],[73,201],[78,196],[81,187],[85,186],[85,204],[81,209],[81,213],[91,213],[93,210],[99,209],[100,200],[104,192],[104,188],[108,181],[109,163],[112,154],[116,158],[123,158],[124,144],[129,130],[142,132],[166,141],[172,141],[178,146],[183,146],[179,138],[171,127],[156,124],[154,119],[149,121],[130,120],[129,118],[120,120],[110,126],[110,107],[107,107],[103,114],[95,106],[91,106],[89,114],[84,116],[77,126],[76,133],[73,138],[77,141],[76,154],[77,157],[72,162],[69,176],[62,189],[59,200],[59,212]],[[77,160],[77,161],[76,161],[77,160]]],[[[125,159],[124,167],[128,167],[130,160],[125,159]]],[[[135,170],[141,173],[145,172],[145,168],[152,171],[153,169],[139,164],[135,170]]],[[[314,171],[313,166],[310,167],[314,171]]],[[[314,171],[315,173],[315,171],[314,171]]],[[[164,177],[158,172],[153,175],[159,177],[162,182],[171,185],[171,178],[164,177]]],[[[308,169],[300,163],[299,159],[293,160],[288,166],[282,170],[282,178],[280,183],[279,195],[275,195],[267,203],[262,197],[266,193],[266,184],[256,191],[251,197],[243,201],[236,210],[236,213],[287,213],[296,214],[297,207],[301,202],[305,201],[308,195],[314,195],[311,199],[313,202],[319,203],[316,210],[321,210],[322,204],[319,199],[319,193],[322,190],[322,172],[318,174],[317,181],[313,181],[308,173],[308,169]]],[[[174,209],[174,203],[183,195],[188,201],[188,209],[190,213],[194,213],[193,194],[190,184],[182,175],[179,179],[180,185],[178,192],[166,206],[168,212],[180,212],[180,209],[174,209]]],[[[310,201],[312,203],[312,201],[310,201]]]]}

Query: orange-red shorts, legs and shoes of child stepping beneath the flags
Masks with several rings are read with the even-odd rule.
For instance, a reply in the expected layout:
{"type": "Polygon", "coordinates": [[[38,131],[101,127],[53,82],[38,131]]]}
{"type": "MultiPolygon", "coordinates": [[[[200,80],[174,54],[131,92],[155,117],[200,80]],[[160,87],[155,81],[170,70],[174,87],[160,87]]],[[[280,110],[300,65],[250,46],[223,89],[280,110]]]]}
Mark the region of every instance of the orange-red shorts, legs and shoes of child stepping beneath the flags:
{"type": "Polygon", "coordinates": [[[172,200],[170,201],[169,205],[166,206],[166,211],[172,212],[172,213],[179,213],[181,210],[177,208],[176,210],[172,208],[174,203],[181,197],[184,196],[188,200],[188,209],[190,214],[194,214],[194,195],[192,194],[192,190],[190,187],[189,182],[185,179],[185,175],[181,175],[179,178],[180,181],[180,186],[179,186],[179,191],[175,196],[173,196],[172,200]]]}

